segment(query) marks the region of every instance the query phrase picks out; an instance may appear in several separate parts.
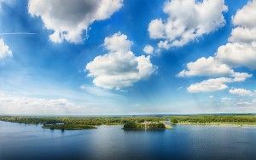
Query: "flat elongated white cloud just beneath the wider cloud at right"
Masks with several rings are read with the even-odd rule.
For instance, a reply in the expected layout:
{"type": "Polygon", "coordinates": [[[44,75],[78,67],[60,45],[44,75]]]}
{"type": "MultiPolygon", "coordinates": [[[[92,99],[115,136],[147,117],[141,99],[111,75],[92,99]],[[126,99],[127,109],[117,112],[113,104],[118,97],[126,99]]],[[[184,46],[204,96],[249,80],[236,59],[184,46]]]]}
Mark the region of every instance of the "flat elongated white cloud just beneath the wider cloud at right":
{"type": "Polygon", "coordinates": [[[227,89],[228,86],[225,83],[231,83],[232,81],[231,78],[227,77],[211,78],[204,80],[201,83],[191,84],[187,90],[189,93],[215,92],[227,89]]]}

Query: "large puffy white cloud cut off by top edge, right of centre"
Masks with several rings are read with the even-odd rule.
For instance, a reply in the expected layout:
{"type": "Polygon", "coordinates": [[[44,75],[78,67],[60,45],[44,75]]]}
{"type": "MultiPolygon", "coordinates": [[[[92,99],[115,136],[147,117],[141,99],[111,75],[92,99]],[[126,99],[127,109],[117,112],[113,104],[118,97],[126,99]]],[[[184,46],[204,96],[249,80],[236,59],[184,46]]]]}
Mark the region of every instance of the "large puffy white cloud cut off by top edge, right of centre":
{"type": "Polygon", "coordinates": [[[224,0],[171,0],[164,5],[167,20],[155,19],[148,25],[149,37],[160,39],[158,47],[183,46],[197,37],[224,26],[224,0]]]}

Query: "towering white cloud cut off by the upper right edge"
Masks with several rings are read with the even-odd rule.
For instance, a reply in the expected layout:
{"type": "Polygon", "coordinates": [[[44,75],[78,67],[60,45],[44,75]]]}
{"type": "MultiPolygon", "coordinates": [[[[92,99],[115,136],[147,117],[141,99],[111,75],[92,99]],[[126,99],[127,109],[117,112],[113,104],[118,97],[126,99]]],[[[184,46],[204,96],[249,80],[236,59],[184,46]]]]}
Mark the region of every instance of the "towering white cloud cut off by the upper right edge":
{"type": "Polygon", "coordinates": [[[230,43],[218,48],[219,60],[231,66],[256,69],[256,0],[249,1],[233,17],[230,43]]]}

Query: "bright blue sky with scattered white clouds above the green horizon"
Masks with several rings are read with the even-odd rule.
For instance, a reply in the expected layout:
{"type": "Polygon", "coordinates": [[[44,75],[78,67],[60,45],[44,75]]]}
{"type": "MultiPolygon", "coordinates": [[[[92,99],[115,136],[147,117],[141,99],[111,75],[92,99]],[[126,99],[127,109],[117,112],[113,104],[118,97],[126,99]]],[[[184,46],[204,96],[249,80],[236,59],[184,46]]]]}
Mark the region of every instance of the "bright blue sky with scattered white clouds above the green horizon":
{"type": "Polygon", "coordinates": [[[255,1],[38,3],[0,0],[0,114],[256,111],[255,1]]]}

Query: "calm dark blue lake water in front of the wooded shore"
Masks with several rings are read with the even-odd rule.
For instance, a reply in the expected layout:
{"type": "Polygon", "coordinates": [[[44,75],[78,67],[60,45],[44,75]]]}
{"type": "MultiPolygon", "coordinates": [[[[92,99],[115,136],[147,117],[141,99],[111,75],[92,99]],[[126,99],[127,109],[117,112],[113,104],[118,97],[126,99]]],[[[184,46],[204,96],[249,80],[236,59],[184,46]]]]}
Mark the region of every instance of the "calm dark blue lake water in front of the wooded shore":
{"type": "Polygon", "coordinates": [[[64,131],[0,122],[0,159],[256,159],[255,127],[64,131]]]}

